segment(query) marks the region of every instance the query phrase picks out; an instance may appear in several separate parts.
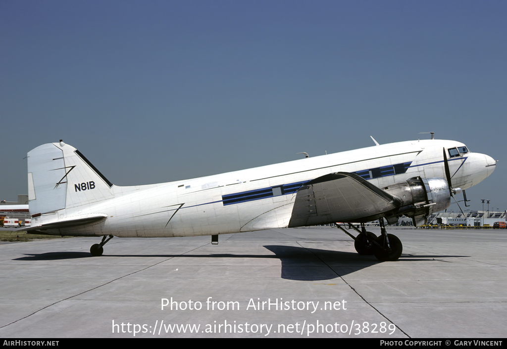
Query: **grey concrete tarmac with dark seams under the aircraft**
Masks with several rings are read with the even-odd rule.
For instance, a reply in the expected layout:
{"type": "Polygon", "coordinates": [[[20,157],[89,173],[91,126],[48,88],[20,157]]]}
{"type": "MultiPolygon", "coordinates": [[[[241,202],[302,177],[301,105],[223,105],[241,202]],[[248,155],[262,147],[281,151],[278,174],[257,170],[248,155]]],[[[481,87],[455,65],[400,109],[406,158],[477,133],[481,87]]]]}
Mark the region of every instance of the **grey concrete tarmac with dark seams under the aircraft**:
{"type": "Polygon", "coordinates": [[[396,262],[329,227],[7,243],[0,337],[507,336],[505,230],[388,232],[396,262]]]}

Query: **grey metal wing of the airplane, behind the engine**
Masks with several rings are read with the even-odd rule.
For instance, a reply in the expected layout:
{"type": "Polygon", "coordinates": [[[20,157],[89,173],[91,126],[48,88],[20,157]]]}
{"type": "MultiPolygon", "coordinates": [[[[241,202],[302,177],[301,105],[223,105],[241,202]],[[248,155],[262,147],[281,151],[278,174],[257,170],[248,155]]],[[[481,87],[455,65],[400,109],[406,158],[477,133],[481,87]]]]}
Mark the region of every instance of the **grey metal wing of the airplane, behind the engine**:
{"type": "Polygon", "coordinates": [[[399,199],[355,173],[336,172],[299,188],[288,226],[369,222],[398,207],[399,199]]]}

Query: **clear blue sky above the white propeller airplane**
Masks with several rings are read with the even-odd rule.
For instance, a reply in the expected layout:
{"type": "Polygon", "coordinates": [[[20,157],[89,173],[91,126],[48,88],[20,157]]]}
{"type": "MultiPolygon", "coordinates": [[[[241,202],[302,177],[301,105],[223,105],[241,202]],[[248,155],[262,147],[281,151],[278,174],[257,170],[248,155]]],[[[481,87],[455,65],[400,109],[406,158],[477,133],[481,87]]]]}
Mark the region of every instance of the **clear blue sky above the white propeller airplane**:
{"type": "Polygon", "coordinates": [[[505,210],[505,18],[500,1],[2,1],[0,199],[60,138],[138,185],[434,131],[499,160],[467,196],[505,210]]]}

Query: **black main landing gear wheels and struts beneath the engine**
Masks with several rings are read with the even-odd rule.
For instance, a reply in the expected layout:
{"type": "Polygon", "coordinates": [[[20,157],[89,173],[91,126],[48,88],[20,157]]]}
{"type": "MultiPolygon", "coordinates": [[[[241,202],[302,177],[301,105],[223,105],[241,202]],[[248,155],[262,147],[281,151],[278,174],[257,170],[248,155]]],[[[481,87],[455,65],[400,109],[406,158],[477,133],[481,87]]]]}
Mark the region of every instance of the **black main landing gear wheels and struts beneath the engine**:
{"type": "Polygon", "coordinates": [[[361,230],[357,229],[352,223],[348,223],[349,229],[352,228],[359,233],[355,237],[338,223],[336,226],[354,239],[354,248],[358,254],[363,256],[373,255],[381,262],[395,261],[402,255],[402,241],[396,235],[387,233],[383,218],[379,219],[379,224],[381,234],[378,237],[374,233],[366,231],[364,223],[361,223],[361,230]]]}

